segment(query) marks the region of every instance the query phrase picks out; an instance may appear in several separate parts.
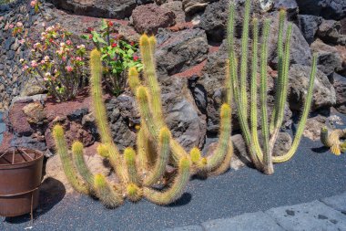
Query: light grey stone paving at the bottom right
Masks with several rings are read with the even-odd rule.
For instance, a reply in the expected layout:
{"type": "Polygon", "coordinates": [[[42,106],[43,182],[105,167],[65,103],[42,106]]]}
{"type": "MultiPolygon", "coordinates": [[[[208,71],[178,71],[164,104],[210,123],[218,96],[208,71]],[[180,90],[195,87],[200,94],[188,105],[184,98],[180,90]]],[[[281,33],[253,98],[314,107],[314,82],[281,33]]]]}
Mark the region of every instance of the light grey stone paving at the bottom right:
{"type": "Polygon", "coordinates": [[[346,193],[300,205],[216,219],[165,231],[327,231],[346,230],[346,193]]]}

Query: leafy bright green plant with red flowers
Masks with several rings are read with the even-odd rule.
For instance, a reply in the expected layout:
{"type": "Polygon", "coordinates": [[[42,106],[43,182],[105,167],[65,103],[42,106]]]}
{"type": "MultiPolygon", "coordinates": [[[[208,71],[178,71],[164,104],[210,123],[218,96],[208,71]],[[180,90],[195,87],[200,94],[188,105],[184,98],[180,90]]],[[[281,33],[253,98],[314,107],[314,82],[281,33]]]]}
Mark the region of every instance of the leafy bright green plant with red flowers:
{"type": "Polygon", "coordinates": [[[107,87],[115,95],[119,95],[125,85],[125,70],[132,67],[138,70],[143,68],[136,55],[138,46],[121,39],[112,21],[103,20],[98,32],[94,28],[88,28],[88,32],[88,35],[82,37],[92,41],[100,50],[107,87]]]}

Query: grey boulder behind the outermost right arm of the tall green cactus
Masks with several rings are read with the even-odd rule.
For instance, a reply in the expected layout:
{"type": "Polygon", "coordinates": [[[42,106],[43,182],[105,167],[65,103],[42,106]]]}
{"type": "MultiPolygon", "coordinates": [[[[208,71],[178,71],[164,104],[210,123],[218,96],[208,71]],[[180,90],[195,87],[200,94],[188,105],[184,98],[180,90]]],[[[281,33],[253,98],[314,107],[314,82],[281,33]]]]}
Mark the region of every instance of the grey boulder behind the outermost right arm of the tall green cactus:
{"type": "MultiPolygon", "coordinates": [[[[301,110],[306,99],[311,67],[294,64],[290,67],[289,102],[291,110],[301,110]]],[[[328,77],[318,70],[313,89],[312,110],[331,107],[336,103],[335,89],[328,77]]]]}

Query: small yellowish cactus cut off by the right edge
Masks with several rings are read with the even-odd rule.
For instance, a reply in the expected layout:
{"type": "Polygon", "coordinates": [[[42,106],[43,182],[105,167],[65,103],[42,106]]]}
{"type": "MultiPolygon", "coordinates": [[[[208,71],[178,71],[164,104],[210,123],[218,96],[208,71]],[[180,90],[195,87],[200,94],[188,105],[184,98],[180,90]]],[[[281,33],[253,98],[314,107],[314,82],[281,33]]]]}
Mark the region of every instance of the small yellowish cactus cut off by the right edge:
{"type": "Polygon", "coordinates": [[[346,153],[346,141],[341,141],[346,138],[346,129],[336,129],[329,131],[327,127],[321,128],[321,142],[324,146],[331,148],[331,152],[335,155],[346,153]]]}

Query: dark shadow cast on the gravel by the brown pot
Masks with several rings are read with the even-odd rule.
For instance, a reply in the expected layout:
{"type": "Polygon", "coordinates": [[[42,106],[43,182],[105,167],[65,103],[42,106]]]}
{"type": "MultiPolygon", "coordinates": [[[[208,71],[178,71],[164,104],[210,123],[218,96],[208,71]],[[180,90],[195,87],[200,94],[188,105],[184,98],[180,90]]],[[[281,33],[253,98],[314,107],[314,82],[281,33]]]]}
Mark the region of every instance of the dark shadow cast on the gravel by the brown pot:
{"type": "MultiPolygon", "coordinates": [[[[34,211],[34,224],[35,220],[45,215],[55,205],[57,205],[66,194],[64,184],[52,177],[47,177],[40,186],[39,205],[34,211]]],[[[5,222],[9,224],[23,224],[31,221],[30,214],[19,215],[15,217],[5,217],[5,222]]]]}

